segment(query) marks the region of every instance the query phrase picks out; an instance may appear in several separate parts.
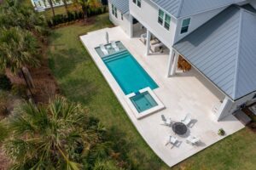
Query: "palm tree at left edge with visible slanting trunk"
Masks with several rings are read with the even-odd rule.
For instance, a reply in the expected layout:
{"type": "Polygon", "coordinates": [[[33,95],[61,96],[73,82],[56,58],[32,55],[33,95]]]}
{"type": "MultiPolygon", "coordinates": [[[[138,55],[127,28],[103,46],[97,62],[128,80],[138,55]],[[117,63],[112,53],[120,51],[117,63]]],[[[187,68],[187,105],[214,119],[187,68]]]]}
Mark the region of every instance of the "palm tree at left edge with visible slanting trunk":
{"type": "Polygon", "coordinates": [[[24,68],[27,65],[38,66],[37,56],[38,42],[32,33],[18,27],[0,30],[0,69],[10,69],[13,73],[20,71],[31,94],[32,83],[28,82],[24,68]]]}

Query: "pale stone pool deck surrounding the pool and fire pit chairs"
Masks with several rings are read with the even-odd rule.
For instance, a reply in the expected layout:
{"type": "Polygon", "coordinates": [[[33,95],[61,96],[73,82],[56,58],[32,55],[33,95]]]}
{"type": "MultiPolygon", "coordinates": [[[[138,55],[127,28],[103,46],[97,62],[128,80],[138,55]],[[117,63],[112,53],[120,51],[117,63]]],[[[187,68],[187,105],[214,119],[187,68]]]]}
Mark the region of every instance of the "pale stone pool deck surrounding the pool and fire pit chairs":
{"type": "Polygon", "coordinates": [[[120,27],[89,32],[87,35],[81,36],[80,40],[102,72],[102,75],[106,78],[137,131],[156,155],[162,161],[165,161],[168,166],[174,166],[244,127],[234,116],[227,116],[221,122],[217,122],[212,113],[212,107],[219,100],[224,99],[224,94],[221,94],[199,72],[192,69],[187,73],[177,73],[176,77],[166,77],[168,55],[152,54],[146,56],[145,45],[138,38],[127,37],[120,27]],[[121,41],[125,45],[125,48],[130,51],[139,64],[143,66],[143,69],[148,72],[148,75],[158,84],[159,88],[153,91],[166,106],[166,109],[137,120],[125,101],[125,94],[119,84],[96,53],[95,48],[101,43],[106,43],[106,31],[108,31],[111,41],[121,41]],[[179,144],[171,149],[171,145],[166,146],[166,142],[169,135],[175,136],[175,134],[172,132],[172,127],[160,125],[163,123],[161,115],[165,115],[166,118],[170,117],[172,121],[179,122],[188,113],[193,118],[193,127],[189,127],[188,133],[183,136],[176,135],[179,144]],[[224,128],[227,135],[224,137],[218,136],[219,128],[224,128]],[[189,134],[199,137],[201,144],[198,146],[187,144],[185,139],[189,134]]]}

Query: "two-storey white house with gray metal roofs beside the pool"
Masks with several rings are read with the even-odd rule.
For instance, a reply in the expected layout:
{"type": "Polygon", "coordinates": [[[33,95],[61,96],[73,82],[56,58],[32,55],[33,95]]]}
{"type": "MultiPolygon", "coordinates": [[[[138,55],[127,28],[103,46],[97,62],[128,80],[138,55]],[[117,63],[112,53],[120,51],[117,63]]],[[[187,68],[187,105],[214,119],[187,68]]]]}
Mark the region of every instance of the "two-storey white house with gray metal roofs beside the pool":
{"type": "Polygon", "coordinates": [[[256,101],[256,0],[109,0],[109,18],[129,37],[156,37],[169,49],[167,76],[179,57],[225,98],[217,120],[256,101]],[[145,33],[147,32],[147,33],[145,33]]]}

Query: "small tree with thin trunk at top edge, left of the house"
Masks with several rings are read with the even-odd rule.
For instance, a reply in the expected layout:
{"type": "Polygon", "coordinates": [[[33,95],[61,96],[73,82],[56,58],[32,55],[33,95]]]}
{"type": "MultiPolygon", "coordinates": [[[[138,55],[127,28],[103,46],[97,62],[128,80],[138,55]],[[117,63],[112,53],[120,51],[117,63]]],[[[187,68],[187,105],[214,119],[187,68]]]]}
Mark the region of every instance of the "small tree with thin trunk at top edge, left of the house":
{"type": "Polygon", "coordinates": [[[84,20],[88,17],[90,8],[100,8],[102,3],[99,0],[74,0],[75,6],[79,6],[84,13],[84,20]]]}

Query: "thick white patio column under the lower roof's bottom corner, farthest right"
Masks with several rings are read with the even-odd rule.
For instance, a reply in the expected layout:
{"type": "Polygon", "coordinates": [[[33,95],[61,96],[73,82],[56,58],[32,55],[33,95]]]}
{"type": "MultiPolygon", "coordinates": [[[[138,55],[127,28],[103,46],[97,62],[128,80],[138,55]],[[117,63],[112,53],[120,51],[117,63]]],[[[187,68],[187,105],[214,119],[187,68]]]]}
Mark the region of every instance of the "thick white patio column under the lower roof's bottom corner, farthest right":
{"type": "Polygon", "coordinates": [[[224,101],[218,108],[218,113],[217,113],[218,121],[221,121],[221,119],[223,119],[225,116],[229,116],[232,114],[230,112],[232,105],[233,105],[232,100],[229,97],[225,96],[224,101]]]}

